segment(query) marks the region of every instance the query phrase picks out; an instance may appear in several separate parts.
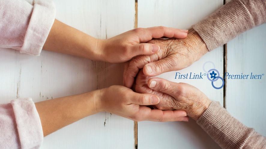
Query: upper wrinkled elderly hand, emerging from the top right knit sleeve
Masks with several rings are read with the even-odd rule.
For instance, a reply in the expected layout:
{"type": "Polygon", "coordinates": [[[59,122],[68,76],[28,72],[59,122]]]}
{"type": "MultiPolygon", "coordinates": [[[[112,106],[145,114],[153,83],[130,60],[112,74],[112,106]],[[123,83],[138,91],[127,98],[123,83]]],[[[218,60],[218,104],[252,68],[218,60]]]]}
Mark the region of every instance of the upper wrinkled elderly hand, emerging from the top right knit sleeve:
{"type": "Polygon", "coordinates": [[[146,76],[181,70],[208,51],[204,41],[194,30],[185,39],[155,39],[149,43],[159,45],[161,50],[152,55],[136,56],[126,64],[123,79],[124,85],[128,88],[131,88],[141,68],[146,76]]]}

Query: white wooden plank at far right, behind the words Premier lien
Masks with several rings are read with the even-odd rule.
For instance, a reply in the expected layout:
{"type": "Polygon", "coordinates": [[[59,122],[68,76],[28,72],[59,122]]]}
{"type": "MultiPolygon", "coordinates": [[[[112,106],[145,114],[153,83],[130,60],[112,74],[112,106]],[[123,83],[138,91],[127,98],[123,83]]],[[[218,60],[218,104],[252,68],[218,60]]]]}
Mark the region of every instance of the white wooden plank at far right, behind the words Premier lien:
{"type": "MultiPolygon", "coordinates": [[[[266,74],[266,24],[240,34],[227,43],[229,74],[266,74]]],[[[226,109],[240,122],[266,136],[266,76],[227,79],[226,109]]]]}

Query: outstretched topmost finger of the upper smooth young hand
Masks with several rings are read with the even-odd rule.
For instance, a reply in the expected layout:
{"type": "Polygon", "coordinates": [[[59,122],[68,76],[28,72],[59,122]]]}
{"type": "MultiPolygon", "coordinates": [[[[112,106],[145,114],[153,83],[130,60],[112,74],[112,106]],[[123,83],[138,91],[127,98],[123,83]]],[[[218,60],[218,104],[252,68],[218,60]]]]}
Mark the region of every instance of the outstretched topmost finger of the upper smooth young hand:
{"type": "Polygon", "coordinates": [[[165,26],[137,28],[136,31],[140,37],[140,42],[148,42],[153,38],[161,38],[163,36],[168,38],[183,39],[187,37],[188,33],[188,30],[175,29],[165,26]]]}

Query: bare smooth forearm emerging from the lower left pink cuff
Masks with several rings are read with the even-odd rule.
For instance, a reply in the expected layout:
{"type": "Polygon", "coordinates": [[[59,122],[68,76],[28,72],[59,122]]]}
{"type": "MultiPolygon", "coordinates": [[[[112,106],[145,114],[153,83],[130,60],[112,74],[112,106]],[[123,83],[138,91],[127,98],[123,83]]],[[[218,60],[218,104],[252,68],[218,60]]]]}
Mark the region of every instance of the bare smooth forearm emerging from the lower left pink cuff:
{"type": "Polygon", "coordinates": [[[44,136],[98,112],[99,90],[35,103],[44,136]]]}

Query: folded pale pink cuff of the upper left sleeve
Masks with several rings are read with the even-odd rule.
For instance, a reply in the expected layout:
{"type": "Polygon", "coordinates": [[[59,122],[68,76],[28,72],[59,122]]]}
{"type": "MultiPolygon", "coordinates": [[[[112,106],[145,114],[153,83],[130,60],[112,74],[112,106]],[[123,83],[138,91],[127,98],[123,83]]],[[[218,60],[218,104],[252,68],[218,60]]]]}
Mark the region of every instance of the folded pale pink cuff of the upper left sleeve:
{"type": "Polygon", "coordinates": [[[33,11],[20,53],[40,55],[55,20],[55,5],[52,1],[33,1],[33,11]]]}

